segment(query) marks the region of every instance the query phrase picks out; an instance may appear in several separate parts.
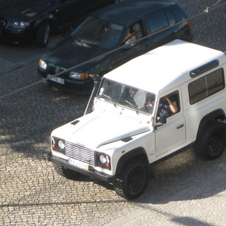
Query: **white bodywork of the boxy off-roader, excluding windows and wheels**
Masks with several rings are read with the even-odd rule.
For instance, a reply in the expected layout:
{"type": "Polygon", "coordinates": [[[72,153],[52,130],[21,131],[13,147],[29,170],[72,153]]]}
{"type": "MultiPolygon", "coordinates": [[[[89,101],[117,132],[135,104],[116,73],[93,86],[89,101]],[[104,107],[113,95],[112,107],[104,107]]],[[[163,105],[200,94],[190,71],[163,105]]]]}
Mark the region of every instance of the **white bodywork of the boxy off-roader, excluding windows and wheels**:
{"type": "MultiPolygon", "coordinates": [[[[145,115],[95,100],[92,113],[77,119],[79,122],[75,125],[70,122],[55,129],[51,136],[108,154],[110,170],[94,167],[108,175],[115,174],[120,158],[137,148],[145,151],[149,163],[155,162],[194,142],[205,115],[216,109],[226,112],[225,88],[196,104],[189,102],[188,85],[200,78],[192,78],[190,72],[216,59],[219,65],[201,76],[217,68],[225,69],[225,54],[179,40],[156,48],[104,76],[154,93],[156,100],[152,114],[145,115]],[[175,90],[179,92],[180,110],[161,125],[156,122],[156,105],[161,97],[175,90]]],[[[53,155],[57,155],[55,151],[53,155]]]]}

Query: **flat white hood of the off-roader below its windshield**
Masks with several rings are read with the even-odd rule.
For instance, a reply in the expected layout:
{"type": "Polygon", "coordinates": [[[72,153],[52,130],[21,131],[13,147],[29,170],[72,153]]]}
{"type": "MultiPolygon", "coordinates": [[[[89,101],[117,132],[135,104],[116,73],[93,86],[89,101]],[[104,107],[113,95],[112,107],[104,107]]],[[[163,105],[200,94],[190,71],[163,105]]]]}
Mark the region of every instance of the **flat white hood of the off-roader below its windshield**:
{"type": "MultiPolygon", "coordinates": [[[[135,114],[135,113],[134,113],[135,114]]],[[[96,149],[150,130],[140,120],[109,113],[89,114],[55,130],[54,136],[96,149]],[[76,125],[74,125],[76,124],[76,125]]]]}

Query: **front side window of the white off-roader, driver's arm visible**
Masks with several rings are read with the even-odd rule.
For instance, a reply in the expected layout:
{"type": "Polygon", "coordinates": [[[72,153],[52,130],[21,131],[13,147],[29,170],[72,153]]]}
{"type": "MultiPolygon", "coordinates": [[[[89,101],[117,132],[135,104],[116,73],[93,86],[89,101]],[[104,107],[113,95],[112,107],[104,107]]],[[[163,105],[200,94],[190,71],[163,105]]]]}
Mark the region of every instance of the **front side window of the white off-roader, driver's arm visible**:
{"type": "Polygon", "coordinates": [[[179,92],[175,91],[164,97],[159,101],[158,114],[165,114],[166,117],[170,117],[180,111],[180,101],[179,101],[179,92]]]}

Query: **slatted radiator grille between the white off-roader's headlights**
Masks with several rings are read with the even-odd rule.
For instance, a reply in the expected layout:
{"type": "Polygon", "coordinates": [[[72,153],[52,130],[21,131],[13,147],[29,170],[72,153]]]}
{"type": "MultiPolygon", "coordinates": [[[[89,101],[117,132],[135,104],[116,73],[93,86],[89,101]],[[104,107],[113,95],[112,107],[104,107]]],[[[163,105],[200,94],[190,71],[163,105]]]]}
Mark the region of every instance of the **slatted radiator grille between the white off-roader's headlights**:
{"type": "Polygon", "coordinates": [[[66,155],[70,158],[95,166],[95,151],[79,144],[65,141],[66,155]]]}

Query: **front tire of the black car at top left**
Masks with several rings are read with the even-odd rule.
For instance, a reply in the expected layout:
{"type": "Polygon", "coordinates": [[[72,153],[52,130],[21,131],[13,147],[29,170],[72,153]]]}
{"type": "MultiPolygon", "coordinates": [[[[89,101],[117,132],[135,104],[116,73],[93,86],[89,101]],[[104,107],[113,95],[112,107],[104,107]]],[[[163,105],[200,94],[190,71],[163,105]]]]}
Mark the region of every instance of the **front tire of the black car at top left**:
{"type": "Polygon", "coordinates": [[[50,24],[48,21],[38,25],[36,29],[34,44],[38,47],[46,47],[50,37],[50,24]]]}

